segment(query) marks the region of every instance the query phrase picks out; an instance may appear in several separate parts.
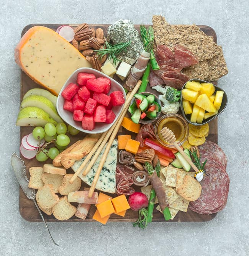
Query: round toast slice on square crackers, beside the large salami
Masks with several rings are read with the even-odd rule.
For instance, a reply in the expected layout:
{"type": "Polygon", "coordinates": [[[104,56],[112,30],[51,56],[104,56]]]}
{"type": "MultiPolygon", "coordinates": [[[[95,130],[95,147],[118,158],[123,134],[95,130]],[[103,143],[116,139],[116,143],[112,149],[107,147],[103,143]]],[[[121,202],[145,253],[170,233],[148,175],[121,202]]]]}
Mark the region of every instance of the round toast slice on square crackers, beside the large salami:
{"type": "Polygon", "coordinates": [[[183,178],[183,184],[177,188],[177,193],[184,199],[195,201],[201,195],[200,183],[189,175],[183,178]]]}

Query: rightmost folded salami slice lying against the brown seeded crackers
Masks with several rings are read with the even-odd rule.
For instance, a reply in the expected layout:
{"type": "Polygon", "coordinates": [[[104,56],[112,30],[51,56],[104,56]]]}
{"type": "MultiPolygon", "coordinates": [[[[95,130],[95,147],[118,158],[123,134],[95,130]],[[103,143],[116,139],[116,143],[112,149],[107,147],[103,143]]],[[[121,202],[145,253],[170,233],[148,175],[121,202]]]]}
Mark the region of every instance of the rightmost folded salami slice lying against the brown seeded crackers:
{"type": "Polygon", "coordinates": [[[175,61],[179,62],[182,67],[190,67],[198,63],[198,57],[182,45],[175,45],[175,61]]]}

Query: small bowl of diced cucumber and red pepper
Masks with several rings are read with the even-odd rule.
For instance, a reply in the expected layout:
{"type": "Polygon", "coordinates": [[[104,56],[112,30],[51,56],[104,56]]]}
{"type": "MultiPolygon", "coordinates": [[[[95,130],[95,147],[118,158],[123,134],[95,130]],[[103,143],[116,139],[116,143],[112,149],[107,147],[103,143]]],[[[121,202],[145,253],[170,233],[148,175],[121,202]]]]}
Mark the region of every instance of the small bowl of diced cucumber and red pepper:
{"type": "Polygon", "coordinates": [[[161,114],[161,102],[155,94],[141,92],[134,95],[128,112],[134,123],[153,123],[161,114]]]}

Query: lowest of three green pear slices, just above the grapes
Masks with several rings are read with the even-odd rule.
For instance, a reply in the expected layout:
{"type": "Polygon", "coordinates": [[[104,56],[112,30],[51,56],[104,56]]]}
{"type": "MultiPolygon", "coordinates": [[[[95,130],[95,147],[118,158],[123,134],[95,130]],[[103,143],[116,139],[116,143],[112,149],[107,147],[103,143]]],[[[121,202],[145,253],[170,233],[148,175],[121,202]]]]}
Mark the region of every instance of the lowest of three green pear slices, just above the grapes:
{"type": "Polygon", "coordinates": [[[56,120],[52,118],[47,112],[38,107],[22,108],[18,114],[17,126],[43,126],[46,123],[53,123],[57,125],[56,120]]]}

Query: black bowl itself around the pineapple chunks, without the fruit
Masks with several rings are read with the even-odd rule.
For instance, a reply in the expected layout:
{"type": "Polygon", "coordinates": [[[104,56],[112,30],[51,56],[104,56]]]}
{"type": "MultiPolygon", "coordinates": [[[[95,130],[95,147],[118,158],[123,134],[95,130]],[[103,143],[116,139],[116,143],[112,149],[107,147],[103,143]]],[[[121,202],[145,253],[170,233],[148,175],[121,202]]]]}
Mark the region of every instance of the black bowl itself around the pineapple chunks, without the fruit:
{"type": "MultiPolygon", "coordinates": [[[[201,79],[190,79],[189,81],[196,81],[196,82],[201,82],[201,83],[210,83],[201,79]]],[[[185,88],[185,85],[187,84],[187,82],[183,85],[182,90],[185,88]]],[[[192,125],[204,125],[205,123],[210,122],[211,120],[215,119],[216,117],[218,117],[218,115],[220,115],[220,113],[222,113],[224,111],[224,109],[226,108],[226,105],[228,103],[228,96],[226,95],[226,92],[221,89],[220,87],[218,87],[217,85],[213,84],[215,87],[215,92],[216,91],[223,91],[223,98],[222,98],[222,102],[221,102],[221,107],[218,111],[218,113],[216,115],[214,115],[213,117],[207,118],[206,120],[203,120],[202,123],[193,123],[190,121],[190,116],[191,114],[185,115],[184,113],[184,109],[183,109],[183,105],[182,105],[182,93],[181,93],[181,101],[180,101],[180,108],[182,110],[182,115],[183,117],[187,120],[188,123],[191,123],[192,125]]]]}

